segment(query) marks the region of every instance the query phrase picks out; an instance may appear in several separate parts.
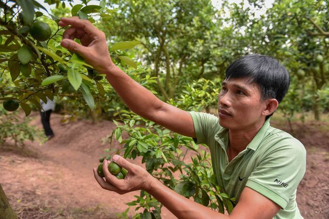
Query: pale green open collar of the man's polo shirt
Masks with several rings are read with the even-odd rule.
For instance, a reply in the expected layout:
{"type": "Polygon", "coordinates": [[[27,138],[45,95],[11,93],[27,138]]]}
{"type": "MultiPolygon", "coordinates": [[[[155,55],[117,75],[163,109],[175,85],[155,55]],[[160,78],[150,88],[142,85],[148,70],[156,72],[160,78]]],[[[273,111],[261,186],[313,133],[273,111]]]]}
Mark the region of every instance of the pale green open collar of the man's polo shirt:
{"type": "MultiPolygon", "coordinates": [[[[251,142],[248,144],[247,148],[251,150],[257,150],[258,146],[261,144],[264,135],[269,128],[270,118],[265,120],[262,128],[257,132],[257,134],[252,138],[251,142]]],[[[216,134],[215,134],[215,140],[220,143],[222,146],[225,146],[227,148],[228,146],[228,129],[221,128],[216,134]]]]}

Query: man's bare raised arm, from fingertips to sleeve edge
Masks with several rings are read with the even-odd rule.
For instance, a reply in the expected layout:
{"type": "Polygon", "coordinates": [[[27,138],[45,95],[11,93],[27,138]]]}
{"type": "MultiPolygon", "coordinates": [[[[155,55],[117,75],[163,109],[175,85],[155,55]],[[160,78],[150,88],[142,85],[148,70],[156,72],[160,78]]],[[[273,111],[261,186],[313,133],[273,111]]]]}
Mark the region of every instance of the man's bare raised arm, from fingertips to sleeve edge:
{"type": "Polygon", "coordinates": [[[162,102],[152,92],[135,82],[111,61],[105,34],[88,20],[79,17],[63,17],[62,27],[70,26],[63,33],[61,45],[81,55],[86,63],[95,70],[106,74],[107,81],[113,86],[123,102],[132,111],[159,125],[182,135],[195,137],[191,115],[162,102]],[[81,44],[74,41],[80,39],[81,44]]]}

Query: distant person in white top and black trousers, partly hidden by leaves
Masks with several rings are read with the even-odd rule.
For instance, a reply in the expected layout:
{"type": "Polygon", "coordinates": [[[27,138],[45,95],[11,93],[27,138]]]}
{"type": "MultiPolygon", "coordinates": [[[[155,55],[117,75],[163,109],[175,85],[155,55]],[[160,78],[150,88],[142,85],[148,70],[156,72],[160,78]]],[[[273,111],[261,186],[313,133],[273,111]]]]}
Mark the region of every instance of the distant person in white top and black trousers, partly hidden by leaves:
{"type": "Polygon", "coordinates": [[[44,103],[40,99],[40,115],[41,115],[41,123],[43,125],[43,129],[45,130],[45,134],[48,138],[52,138],[54,136],[52,129],[50,128],[50,114],[55,110],[55,102],[47,97],[47,103],[44,103]]]}

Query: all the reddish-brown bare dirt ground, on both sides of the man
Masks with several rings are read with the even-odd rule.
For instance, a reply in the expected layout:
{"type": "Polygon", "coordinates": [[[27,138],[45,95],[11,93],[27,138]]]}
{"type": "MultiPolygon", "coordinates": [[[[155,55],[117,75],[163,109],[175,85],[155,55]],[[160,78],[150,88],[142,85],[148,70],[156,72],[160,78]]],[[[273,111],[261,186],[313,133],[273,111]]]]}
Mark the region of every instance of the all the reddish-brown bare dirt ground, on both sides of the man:
{"type": "MultiPolygon", "coordinates": [[[[38,113],[31,116],[32,124],[41,128],[38,113]]],[[[92,171],[108,148],[102,139],[115,125],[108,121],[62,125],[61,118],[60,114],[51,115],[55,136],[45,144],[26,142],[24,150],[7,144],[0,150],[0,183],[10,204],[20,218],[118,218],[116,214],[139,192],[119,195],[105,191],[92,171]]],[[[288,127],[271,125],[283,130],[288,127]]],[[[294,136],[307,150],[307,170],[297,192],[298,207],[305,218],[329,218],[328,125],[293,124],[294,136]]],[[[120,146],[113,143],[112,147],[120,146]]],[[[141,165],[140,159],[132,162],[141,165]]],[[[176,218],[162,209],[162,218],[176,218]]],[[[130,209],[130,216],[134,210],[130,209]]]]}

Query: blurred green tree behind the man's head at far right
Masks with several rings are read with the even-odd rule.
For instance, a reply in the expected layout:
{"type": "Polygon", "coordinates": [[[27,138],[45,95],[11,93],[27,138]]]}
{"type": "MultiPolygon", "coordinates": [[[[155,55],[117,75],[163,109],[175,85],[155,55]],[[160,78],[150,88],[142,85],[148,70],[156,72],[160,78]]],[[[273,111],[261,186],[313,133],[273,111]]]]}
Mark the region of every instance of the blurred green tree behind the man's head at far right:
{"type": "Polygon", "coordinates": [[[274,56],[287,67],[291,87],[279,109],[288,120],[296,111],[310,109],[319,120],[329,98],[323,95],[329,79],[327,1],[275,1],[267,8],[265,1],[224,1],[223,7],[231,11],[226,22],[236,28],[240,48],[274,56]],[[266,13],[257,15],[261,9],[266,13]]]}

